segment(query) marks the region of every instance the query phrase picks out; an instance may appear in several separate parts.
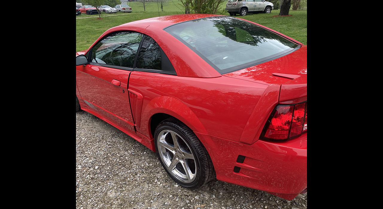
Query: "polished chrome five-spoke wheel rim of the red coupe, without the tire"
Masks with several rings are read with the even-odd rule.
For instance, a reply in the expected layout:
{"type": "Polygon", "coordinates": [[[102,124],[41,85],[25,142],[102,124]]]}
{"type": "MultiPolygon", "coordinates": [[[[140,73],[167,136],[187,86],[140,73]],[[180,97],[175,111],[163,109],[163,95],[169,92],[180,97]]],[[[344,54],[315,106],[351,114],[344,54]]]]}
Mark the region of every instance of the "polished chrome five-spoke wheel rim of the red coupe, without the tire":
{"type": "Polygon", "coordinates": [[[171,130],[161,131],[158,137],[159,155],[168,172],[179,181],[193,182],[196,177],[195,157],[185,140],[171,130]]]}

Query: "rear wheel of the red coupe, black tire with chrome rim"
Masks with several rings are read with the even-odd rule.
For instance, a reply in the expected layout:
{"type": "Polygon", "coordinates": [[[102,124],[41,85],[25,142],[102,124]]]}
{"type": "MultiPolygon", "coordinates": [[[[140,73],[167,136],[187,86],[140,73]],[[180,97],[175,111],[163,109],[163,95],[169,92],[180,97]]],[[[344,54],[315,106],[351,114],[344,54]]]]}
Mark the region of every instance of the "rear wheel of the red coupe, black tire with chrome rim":
{"type": "Polygon", "coordinates": [[[193,131],[179,120],[162,121],[155,129],[154,144],[162,167],[179,185],[199,188],[213,179],[215,172],[208,152],[193,131]]]}

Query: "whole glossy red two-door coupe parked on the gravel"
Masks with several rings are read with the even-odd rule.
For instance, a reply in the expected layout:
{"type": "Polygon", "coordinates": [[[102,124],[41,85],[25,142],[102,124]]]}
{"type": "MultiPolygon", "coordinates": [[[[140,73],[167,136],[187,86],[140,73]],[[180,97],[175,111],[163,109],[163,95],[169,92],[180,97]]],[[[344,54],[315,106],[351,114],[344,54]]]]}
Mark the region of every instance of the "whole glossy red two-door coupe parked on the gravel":
{"type": "Polygon", "coordinates": [[[247,20],[172,15],[76,53],[76,111],[154,152],[178,184],[307,192],[307,46],[247,20]]]}

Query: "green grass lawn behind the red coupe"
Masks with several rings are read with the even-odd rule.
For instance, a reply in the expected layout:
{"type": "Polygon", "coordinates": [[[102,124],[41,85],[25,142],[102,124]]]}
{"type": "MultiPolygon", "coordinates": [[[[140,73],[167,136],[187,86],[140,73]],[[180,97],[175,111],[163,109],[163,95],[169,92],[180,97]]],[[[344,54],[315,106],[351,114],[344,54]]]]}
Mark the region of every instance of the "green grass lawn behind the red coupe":
{"type": "MultiPolygon", "coordinates": [[[[181,7],[177,3],[177,0],[170,1],[167,6],[164,6],[164,11],[161,11],[161,8],[157,8],[157,2],[149,2],[144,11],[141,3],[129,2],[132,13],[101,13],[103,19],[97,19],[98,15],[76,15],[76,52],[88,49],[109,28],[140,19],[157,17],[158,13],[160,16],[184,14],[185,11],[181,11],[179,9],[181,7]]],[[[222,4],[222,8],[225,8],[225,4],[222,4]]],[[[229,15],[229,13],[223,12],[221,15],[229,15]]],[[[290,17],[273,17],[275,15],[279,15],[279,10],[273,10],[270,14],[258,13],[246,16],[236,15],[236,17],[261,24],[307,45],[307,10],[290,10],[289,15],[292,15],[290,17]]]]}

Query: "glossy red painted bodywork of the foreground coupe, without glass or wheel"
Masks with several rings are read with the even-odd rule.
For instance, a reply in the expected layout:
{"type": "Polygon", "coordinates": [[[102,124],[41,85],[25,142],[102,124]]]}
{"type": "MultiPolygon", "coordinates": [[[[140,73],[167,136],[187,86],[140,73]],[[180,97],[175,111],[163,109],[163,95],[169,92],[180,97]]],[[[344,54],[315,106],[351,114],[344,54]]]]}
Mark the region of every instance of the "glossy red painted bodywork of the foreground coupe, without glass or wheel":
{"type": "MultiPolygon", "coordinates": [[[[158,113],[185,123],[206,147],[217,179],[293,199],[307,188],[307,133],[286,142],[259,140],[277,104],[307,100],[307,46],[275,60],[220,75],[163,29],[218,15],[144,19],[104,32],[135,31],[154,39],[177,75],[87,65],[76,66],[82,110],[105,120],[155,151],[152,118],[158,113]],[[239,155],[243,163],[236,162],[239,155]],[[234,172],[234,167],[241,168],[234,172]]],[[[258,25],[258,24],[257,24],[258,25]]],[[[262,26],[263,27],[263,26],[262,26]]],[[[264,27],[265,28],[265,27],[264,27]]],[[[271,30],[271,29],[270,29],[271,30]]]]}

